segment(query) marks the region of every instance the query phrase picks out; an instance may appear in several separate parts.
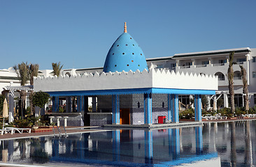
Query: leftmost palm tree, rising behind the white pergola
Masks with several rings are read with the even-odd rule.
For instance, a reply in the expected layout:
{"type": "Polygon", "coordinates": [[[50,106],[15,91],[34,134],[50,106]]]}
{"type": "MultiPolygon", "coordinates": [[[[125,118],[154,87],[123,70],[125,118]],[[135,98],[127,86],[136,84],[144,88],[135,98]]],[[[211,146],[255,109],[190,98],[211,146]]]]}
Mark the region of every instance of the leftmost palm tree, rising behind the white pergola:
{"type": "MultiPolygon", "coordinates": [[[[24,86],[27,84],[27,81],[29,80],[29,65],[24,62],[15,65],[14,67],[15,72],[17,73],[17,78],[20,79],[20,85],[24,86]]],[[[26,106],[26,90],[20,90],[20,97],[21,97],[21,111],[19,112],[19,116],[24,118],[24,111],[26,106]]]]}

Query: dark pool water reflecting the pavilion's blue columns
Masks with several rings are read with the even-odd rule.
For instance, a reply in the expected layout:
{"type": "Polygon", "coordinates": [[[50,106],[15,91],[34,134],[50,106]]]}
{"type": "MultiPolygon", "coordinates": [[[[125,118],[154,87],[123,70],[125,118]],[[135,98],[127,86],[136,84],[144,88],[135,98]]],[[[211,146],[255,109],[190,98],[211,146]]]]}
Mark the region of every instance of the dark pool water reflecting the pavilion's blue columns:
{"type": "Polygon", "coordinates": [[[256,166],[256,121],[1,141],[0,161],[42,166],[256,166]]]}

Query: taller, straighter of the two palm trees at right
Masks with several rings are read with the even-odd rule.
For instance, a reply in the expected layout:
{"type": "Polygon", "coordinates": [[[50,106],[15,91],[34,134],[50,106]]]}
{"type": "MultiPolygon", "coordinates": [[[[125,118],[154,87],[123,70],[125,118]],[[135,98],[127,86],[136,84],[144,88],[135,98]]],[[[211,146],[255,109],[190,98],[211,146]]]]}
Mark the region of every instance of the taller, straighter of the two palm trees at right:
{"type": "Polygon", "coordinates": [[[235,112],[234,108],[234,71],[233,71],[233,65],[234,65],[234,51],[230,52],[229,54],[229,69],[227,70],[227,79],[229,80],[229,95],[230,95],[230,106],[231,106],[231,112],[235,112]]]}

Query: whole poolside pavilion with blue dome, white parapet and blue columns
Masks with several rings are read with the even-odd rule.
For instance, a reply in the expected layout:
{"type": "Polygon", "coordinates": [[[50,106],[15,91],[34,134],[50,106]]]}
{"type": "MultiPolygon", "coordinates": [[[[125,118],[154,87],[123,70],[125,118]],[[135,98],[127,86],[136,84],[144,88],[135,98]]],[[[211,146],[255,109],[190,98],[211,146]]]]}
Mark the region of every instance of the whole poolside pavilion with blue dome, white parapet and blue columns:
{"type": "MultiPolygon", "coordinates": [[[[152,125],[157,116],[179,122],[178,95],[194,95],[195,120],[201,121],[201,95],[215,95],[217,89],[214,75],[148,70],[143,51],[127,33],[126,26],[108,51],[103,72],[77,75],[71,72],[34,79],[34,90],[52,97],[55,116],[62,115],[57,113],[59,102],[66,100],[67,113],[71,113],[71,106],[77,102],[77,110],[73,111],[84,111],[85,125],[152,125]],[[90,96],[94,112],[88,112],[90,96]],[[72,104],[74,99],[76,102],[72,104]]],[[[81,118],[78,119],[80,122],[81,118]]]]}

